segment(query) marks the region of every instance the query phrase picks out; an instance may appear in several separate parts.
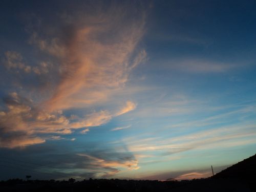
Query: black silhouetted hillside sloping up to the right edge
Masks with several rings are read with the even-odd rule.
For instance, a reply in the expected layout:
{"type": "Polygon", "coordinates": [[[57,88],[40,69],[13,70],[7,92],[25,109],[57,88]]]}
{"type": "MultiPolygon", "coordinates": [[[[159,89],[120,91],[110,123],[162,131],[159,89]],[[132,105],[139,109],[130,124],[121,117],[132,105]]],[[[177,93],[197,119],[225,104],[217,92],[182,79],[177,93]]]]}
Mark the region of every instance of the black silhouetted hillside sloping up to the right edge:
{"type": "MultiPolygon", "coordinates": [[[[256,155],[234,164],[220,173],[204,179],[190,181],[177,187],[178,191],[256,191],[256,155]]],[[[170,191],[170,190],[169,190],[170,191]]]]}

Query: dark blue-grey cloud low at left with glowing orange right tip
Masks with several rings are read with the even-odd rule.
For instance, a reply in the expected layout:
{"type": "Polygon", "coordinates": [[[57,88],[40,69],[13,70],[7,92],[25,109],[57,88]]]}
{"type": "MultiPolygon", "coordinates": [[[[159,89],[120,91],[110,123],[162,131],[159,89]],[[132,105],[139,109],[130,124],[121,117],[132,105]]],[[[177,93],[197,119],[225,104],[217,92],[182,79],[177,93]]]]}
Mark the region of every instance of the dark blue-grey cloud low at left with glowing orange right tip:
{"type": "MultiPolygon", "coordinates": [[[[97,145],[93,144],[92,147],[97,147],[97,145]]],[[[28,173],[31,171],[32,175],[36,175],[35,177],[44,178],[48,173],[49,177],[54,179],[62,179],[62,176],[87,179],[111,177],[122,169],[133,167],[133,163],[136,163],[131,153],[118,153],[111,148],[98,151],[86,150],[86,153],[82,148],[77,148],[76,151],[80,154],[89,154],[81,156],[72,152],[71,147],[70,145],[59,150],[56,144],[45,143],[39,147],[32,145],[12,151],[1,150],[0,155],[5,159],[2,165],[10,168],[10,163],[16,164],[17,169],[23,167],[28,170],[28,173]]],[[[22,173],[24,173],[23,170],[22,173]]]]}

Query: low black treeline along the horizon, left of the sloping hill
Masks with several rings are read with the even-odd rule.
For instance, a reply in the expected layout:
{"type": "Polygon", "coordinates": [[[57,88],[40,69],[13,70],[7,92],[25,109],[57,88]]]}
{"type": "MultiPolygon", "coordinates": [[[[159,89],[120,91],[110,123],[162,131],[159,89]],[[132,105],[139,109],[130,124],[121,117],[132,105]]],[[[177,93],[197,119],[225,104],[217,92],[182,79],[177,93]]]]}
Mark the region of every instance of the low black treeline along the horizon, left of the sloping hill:
{"type": "Polygon", "coordinates": [[[1,191],[165,191],[185,185],[177,181],[90,179],[76,181],[21,180],[10,179],[0,182],[1,191]]]}

